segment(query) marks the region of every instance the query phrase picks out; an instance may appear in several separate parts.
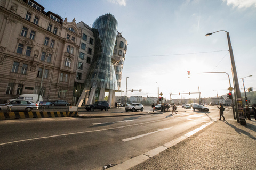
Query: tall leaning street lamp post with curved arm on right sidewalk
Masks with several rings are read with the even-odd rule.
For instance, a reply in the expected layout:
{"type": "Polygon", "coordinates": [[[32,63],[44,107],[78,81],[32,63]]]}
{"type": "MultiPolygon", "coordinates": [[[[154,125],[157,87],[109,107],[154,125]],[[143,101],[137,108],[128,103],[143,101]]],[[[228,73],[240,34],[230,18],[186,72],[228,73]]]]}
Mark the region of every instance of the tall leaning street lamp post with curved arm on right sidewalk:
{"type": "MultiPolygon", "coordinates": [[[[221,31],[226,32],[227,33],[227,38],[228,38],[228,48],[229,48],[231,66],[232,66],[233,83],[234,83],[234,88],[235,88],[234,96],[235,96],[235,101],[236,101],[235,104],[236,104],[237,122],[238,123],[240,122],[241,125],[246,125],[243,103],[242,103],[242,98],[241,98],[241,92],[240,92],[240,89],[239,89],[239,83],[238,83],[237,72],[236,72],[236,64],[235,64],[235,59],[234,59],[233,50],[232,50],[232,46],[231,46],[231,41],[230,41],[230,37],[229,37],[229,32],[224,31],[224,30],[220,30],[220,31],[216,31],[216,32],[221,32],[221,31]]],[[[216,33],[216,32],[207,33],[205,36],[210,36],[210,35],[212,35],[213,33],[216,33]]]]}

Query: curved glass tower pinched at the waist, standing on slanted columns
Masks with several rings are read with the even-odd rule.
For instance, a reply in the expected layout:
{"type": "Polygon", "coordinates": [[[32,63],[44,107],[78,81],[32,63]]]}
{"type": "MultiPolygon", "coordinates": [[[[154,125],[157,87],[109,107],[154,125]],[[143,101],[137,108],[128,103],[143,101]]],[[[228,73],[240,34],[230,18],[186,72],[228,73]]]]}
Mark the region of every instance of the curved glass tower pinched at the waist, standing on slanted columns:
{"type": "Polygon", "coordinates": [[[84,98],[88,100],[87,104],[104,101],[105,92],[109,93],[108,101],[110,105],[113,105],[118,86],[111,56],[115,47],[117,20],[111,14],[99,16],[93,23],[93,34],[95,38],[94,56],[85,79],[85,89],[78,100],[78,106],[82,104],[84,98]]]}

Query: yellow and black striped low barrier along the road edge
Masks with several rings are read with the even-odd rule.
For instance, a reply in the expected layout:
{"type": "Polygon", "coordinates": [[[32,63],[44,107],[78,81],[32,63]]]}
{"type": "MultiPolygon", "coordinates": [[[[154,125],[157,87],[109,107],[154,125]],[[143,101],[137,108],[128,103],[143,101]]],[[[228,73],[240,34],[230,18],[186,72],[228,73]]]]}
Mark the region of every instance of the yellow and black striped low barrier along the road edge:
{"type": "Polygon", "coordinates": [[[74,112],[0,112],[0,120],[11,120],[19,118],[47,118],[47,117],[76,117],[77,111],[74,112]]]}

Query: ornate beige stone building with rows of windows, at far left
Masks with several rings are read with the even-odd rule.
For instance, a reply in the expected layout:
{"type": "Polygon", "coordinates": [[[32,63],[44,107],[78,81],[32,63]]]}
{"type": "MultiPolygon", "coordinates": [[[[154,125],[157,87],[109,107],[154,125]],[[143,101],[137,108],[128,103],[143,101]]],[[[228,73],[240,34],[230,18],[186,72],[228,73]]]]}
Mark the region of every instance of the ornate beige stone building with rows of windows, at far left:
{"type": "Polygon", "coordinates": [[[0,102],[73,98],[81,30],[33,0],[0,1],[0,102]],[[42,83],[41,83],[42,82],[42,83]]]}

